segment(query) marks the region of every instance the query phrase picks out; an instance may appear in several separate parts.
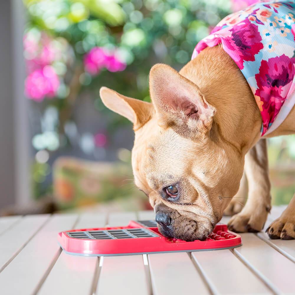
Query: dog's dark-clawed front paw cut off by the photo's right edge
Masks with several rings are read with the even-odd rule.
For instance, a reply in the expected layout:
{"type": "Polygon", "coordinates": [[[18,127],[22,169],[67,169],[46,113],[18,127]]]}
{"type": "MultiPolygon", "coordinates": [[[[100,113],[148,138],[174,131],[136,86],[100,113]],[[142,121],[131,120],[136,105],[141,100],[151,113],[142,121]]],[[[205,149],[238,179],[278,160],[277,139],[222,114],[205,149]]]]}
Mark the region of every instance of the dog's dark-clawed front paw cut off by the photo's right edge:
{"type": "Polygon", "coordinates": [[[266,229],[271,239],[295,239],[295,217],[279,217],[266,229]]]}

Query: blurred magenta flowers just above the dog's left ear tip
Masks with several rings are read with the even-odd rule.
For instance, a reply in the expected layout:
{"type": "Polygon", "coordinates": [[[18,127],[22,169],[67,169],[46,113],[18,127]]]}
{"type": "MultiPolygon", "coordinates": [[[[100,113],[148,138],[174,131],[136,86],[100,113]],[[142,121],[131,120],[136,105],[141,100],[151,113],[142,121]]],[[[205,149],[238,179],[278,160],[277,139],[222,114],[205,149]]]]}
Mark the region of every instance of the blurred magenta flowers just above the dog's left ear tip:
{"type": "Polygon", "coordinates": [[[94,47],[85,55],[84,67],[91,75],[97,75],[103,68],[110,72],[123,71],[126,64],[120,61],[114,53],[107,52],[102,47],[94,47]]]}

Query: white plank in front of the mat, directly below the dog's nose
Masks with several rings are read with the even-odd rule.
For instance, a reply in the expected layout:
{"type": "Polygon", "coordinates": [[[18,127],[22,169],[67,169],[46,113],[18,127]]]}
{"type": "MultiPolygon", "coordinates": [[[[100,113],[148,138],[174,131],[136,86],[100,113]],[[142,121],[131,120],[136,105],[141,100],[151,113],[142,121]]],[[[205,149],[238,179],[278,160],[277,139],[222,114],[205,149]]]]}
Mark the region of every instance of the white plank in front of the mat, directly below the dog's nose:
{"type": "Polygon", "coordinates": [[[187,253],[150,254],[148,261],[154,295],[210,294],[187,253]]]}

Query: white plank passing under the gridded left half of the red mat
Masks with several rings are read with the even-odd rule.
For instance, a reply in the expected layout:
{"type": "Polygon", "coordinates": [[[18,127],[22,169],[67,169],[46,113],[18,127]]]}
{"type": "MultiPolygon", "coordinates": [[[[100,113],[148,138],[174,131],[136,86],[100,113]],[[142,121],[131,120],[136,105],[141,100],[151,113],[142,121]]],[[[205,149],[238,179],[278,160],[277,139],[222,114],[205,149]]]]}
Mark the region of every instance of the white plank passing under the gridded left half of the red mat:
{"type": "MultiPolygon", "coordinates": [[[[81,214],[77,229],[103,227],[106,214],[81,214]]],[[[98,257],[74,256],[64,251],[58,257],[38,294],[92,294],[98,257]]]]}

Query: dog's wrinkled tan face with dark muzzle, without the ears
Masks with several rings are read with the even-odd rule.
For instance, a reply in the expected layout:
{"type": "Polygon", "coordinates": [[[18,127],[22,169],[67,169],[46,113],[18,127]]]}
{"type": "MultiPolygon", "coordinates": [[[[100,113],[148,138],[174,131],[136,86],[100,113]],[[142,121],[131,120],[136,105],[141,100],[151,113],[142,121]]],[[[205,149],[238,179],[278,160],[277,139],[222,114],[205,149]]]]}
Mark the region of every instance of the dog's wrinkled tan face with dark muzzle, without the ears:
{"type": "Polygon", "coordinates": [[[235,163],[209,138],[196,143],[154,120],[135,132],[135,184],[149,197],[163,235],[203,240],[236,192],[229,189],[235,163]]]}

